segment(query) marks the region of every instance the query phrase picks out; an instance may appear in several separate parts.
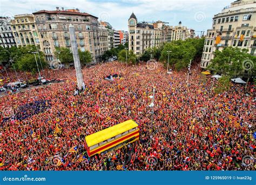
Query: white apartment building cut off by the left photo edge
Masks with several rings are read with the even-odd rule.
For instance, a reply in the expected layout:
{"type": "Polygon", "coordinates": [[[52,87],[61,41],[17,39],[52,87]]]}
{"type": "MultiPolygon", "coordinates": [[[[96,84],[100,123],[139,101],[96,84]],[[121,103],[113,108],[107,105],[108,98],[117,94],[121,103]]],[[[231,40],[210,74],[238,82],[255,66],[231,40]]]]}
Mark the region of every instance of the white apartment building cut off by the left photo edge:
{"type": "Polygon", "coordinates": [[[0,46],[4,48],[16,46],[10,20],[9,17],[0,17],[0,46]]]}

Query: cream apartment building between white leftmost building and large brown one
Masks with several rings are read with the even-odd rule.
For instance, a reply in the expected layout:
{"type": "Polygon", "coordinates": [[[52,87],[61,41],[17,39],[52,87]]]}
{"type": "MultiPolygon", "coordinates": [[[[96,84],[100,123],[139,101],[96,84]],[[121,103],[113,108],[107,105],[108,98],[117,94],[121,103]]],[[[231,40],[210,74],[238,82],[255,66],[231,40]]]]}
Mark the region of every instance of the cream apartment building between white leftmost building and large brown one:
{"type": "Polygon", "coordinates": [[[17,47],[26,45],[40,46],[35,17],[32,14],[15,15],[14,20],[11,20],[11,29],[17,47]]]}

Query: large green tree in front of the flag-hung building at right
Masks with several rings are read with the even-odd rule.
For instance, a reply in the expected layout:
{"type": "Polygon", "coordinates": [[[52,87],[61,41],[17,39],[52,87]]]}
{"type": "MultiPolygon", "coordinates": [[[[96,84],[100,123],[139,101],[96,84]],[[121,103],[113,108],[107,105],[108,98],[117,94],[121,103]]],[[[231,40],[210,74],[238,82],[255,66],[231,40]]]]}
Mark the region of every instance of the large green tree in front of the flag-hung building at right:
{"type": "Polygon", "coordinates": [[[238,47],[231,46],[222,51],[216,50],[207,68],[222,76],[239,76],[245,71],[251,76],[255,73],[256,57],[247,52],[246,49],[240,50],[238,47]],[[251,64],[251,67],[247,67],[247,64],[251,64]]]}

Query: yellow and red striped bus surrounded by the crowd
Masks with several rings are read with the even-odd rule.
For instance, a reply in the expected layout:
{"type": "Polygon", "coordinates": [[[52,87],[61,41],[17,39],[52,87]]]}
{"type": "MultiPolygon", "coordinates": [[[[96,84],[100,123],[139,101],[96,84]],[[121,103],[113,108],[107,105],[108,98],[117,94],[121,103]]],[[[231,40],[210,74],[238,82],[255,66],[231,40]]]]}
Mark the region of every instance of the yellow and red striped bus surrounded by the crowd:
{"type": "Polygon", "coordinates": [[[138,139],[138,124],[133,120],[127,120],[118,125],[87,135],[85,137],[85,148],[89,157],[96,154],[103,155],[112,150],[122,148],[138,139]]]}

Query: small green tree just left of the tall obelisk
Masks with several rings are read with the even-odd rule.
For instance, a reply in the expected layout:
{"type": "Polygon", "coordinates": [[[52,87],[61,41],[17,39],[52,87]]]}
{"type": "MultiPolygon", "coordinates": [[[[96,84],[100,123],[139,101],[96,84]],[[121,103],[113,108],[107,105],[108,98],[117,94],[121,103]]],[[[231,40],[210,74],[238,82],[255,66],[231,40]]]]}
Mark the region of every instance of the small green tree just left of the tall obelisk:
{"type": "Polygon", "coordinates": [[[69,47],[57,47],[54,54],[64,64],[69,64],[74,61],[73,54],[69,47]]]}

